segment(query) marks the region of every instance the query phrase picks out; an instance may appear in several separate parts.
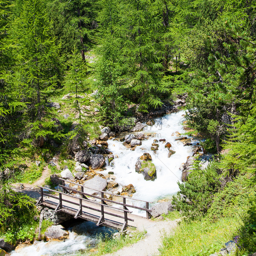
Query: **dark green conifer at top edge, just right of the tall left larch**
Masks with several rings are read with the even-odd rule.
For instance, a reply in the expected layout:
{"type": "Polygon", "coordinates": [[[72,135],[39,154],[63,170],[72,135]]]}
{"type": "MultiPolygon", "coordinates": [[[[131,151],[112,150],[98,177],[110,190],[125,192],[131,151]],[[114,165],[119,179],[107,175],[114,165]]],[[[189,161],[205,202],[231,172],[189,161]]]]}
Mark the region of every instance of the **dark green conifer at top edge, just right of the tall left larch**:
{"type": "Polygon", "coordinates": [[[97,27],[97,1],[49,1],[47,10],[57,43],[61,45],[61,55],[72,56],[76,47],[85,61],[85,52],[93,46],[93,31],[97,27]]]}

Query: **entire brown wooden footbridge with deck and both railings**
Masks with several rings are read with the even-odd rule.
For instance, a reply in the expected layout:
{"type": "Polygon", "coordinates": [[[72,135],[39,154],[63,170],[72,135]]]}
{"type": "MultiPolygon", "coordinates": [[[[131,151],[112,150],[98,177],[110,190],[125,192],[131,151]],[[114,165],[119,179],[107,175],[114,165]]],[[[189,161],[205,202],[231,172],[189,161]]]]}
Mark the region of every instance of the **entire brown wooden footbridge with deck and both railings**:
{"type": "Polygon", "coordinates": [[[39,186],[40,198],[37,205],[52,208],[55,212],[62,211],[68,213],[74,216],[74,218],[82,218],[88,221],[93,221],[97,226],[102,225],[121,231],[124,231],[128,225],[136,227],[136,224],[131,224],[135,218],[145,219],[145,217],[132,214],[132,211],[129,210],[128,207],[146,211],[146,219],[149,219],[150,213],[152,212],[152,210],[149,209],[149,202],[133,199],[127,196],[112,194],[106,191],[96,190],[64,179],[60,180],[62,181],[62,185],[59,186],[63,189],[63,192],[39,186]],[[78,188],[74,189],[66,187],[65,182],[78,185],[78,188]],[[43,189],[54,192],[54,194],[46,193],[43,191],[43,189]],[[94,190],[100,196],[85,193],[84,189],[94,190]],[[76,193],[77,196],[74,196],[71,193],[76,193]],[[107,199],[106,196],[104,197],[106,194],[121,197],[123,202],[116,202],[107,199]],[[95,199],[98,199],[99,202],[95,202],[95,199]],[[126,203],[126,199],[144,202],[145,208],[129,205],[126,203]],[[107,202],[111,203],[111,205],[108,205],[107,202]]]}

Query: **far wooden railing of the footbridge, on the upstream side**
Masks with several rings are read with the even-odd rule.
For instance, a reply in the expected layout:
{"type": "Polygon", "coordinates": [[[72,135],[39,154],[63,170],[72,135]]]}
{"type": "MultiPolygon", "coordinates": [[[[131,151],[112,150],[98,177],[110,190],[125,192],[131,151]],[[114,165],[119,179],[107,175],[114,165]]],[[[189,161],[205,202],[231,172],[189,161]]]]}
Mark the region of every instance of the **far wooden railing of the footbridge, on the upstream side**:
{"type": "MultiPolygon", "coordinates": [[[[93,198],[96,198],[96,199],[100,199],[100,200],[104,201],[103,204],[106,204],[106,202],[110,202],[110,203],[113,203],[113,204],[116,204],[116,205],[121,205],[121,206],[123,206],[123,209],[125,209],[125,210],[128,210],[127,207],[130,207],[130,208],[134,208],[134,209],[146,211],[146,218],[147,218],[147,219],[150,218],[150,215],[151,215],[151,213],[152,213],[152,210],[149,209],[149,203],[152,203],[152,202],[148,202],[148,201],[144,201],[144,200],[140,200],[140,199],[135,199],[135,198],[128,197],[128,196],[116,195],[116,194],[113,194],[113,193],[110,193],[110,192],[107,192],[107,191],[97,190],[97,189],[90,188],[90,187],[87,187],[87,186],[82,185],[82,184],[77,184],[77,183],[75,183],[75,182],[72,182],[72,181],[69,181],[69,180],[66,180],[66,179],[61,179],[61,178],[59,178],[59,179],[62,181],[62,185],[60,185],[60,187],[63,188],[63,191],[65,191],[66,193],[69,193],[68,190],[70,190],[70,191],[79,193],[79,194],[84,195],[84,196],[90,196],[90,197],[93,197],[93,198]],[[78,191],[78,190],[73,189],[73,188],[65,187],[65,182],[69,182],[69,183],[71,183],[71,184],[75,184],[75,185],[80,186],[80,187],[81,187],[81,191],[78,191]],[[91,190],[100,192],[100,193],[101,193],[101,196],[99,197],[99,196],[91,195],[91,194],[88,194],[88,193],[84,193],[84,188],[88,188],[88,189],[91,189],[91,190]],[[104,194],[122,197],[122,198],[123,198],[123,203],[121,203],[121,202],[116,202],[116,201],[113,201],[113,200],[104,198],[104,194]],[[136,206],[136,205],[129,205],[129,204],[126,203],[126,199],[135,200],[135,201],[140,201],[140,202],[145,202],[145,203],[146,203],[146,207],[144,208],[144,207],[139,207],[139,206],[136,206]]],[[[86,198],[87,198],[87,197],[86,197],[86,198]]],[[[119,209],[120,209],[120,208],[119,208],[119,209]]]]}

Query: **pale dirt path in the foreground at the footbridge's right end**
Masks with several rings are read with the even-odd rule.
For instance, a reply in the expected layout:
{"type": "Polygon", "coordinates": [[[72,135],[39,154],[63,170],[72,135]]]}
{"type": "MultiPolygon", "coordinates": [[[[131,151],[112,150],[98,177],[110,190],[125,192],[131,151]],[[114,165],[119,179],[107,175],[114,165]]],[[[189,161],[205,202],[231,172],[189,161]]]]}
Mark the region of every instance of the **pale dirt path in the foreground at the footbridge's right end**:
{"type": "Polygon", "coordinates": [[[162,243],[164,234],[171,234],[174,232],[177,223],[180,220],[174,221],[141,221],[139,230],[146,230],[146,237],[135,244],[123,247],[122,249],[112,254],[105,256],[153,256],[158,255],[158,248],[162,243]]]}

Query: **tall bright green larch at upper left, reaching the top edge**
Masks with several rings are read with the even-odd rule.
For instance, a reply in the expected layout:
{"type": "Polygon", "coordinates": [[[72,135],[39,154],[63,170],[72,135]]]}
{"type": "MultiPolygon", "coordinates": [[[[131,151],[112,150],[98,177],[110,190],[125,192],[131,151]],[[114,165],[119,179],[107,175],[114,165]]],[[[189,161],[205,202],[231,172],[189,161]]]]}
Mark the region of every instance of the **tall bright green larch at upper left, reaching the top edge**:
{"type": "Polygon", "coordinates": [[[20,9],[20,16],[12,25],[16,50],[13,89],[19,93],[20,101],[26,103],[23,137],[42,146],[43,137],[51,134],[47,102],[61,77],[62,64],[44,0],[25,0],[20,9]]]}

